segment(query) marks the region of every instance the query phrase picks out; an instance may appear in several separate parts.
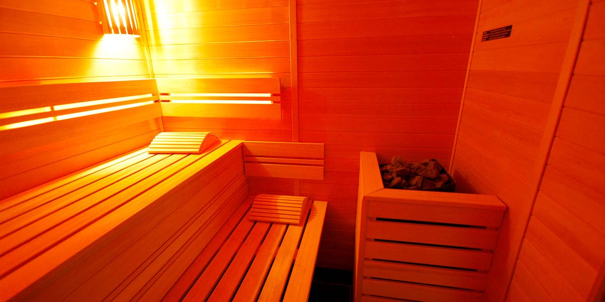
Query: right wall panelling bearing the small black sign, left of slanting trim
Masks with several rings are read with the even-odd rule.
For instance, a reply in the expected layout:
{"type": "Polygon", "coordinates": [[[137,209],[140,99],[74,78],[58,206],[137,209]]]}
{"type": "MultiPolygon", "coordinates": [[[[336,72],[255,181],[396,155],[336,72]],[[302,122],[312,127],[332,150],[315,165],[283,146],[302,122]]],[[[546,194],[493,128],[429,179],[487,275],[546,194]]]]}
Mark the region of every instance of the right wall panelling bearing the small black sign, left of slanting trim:
{"type": "MultiPolygon", "coordinates": [[[[519,257],[526,262],[520,260],[515,271],[519,277],[511,283],[525,225],[534,207],[535,185],[540,181],[534,173],[535,166],[541,165],[543,155],[539,149],[544,144],[543,135],[577,7],[578,1],[572,0],[482,1],[451,172],[461,190],[495,194],[508,206],[484,301],[505,300],[509,287],[511,301],[531,301],[532,297],[549,291],[543,299],[557,300],[560,297],[551,297],[551,288],[573,278],[556,277],[561,274],[560,265],[552,262],[573,253],[555,253],[546,258],[540,255],[536,259],[535,251],[549,243],[538,245],[535,241],[531,248],[523,244],[519,257]],[[511,37],[481,41],[483,31],[511,24],[511,37]],[[547,263],[558,271],[552,274],[552,283],[546,279],[536,281],[553,271],[547,263]]],[[[568,112],[566,120],[570,123],[577,120],[575,113],[568,112]]],[[[545,177],[548,175],[551,173],[547,172],[545,177]]],[[[536,207],[544,209],[542,205],[536,207]]],[[[546,218],[541,220],[546,222],[546,218]]],[[[530,227],[538,225],[530,223],[530,227]]],[[[545,228],[539,228],[535,234],[541,234],[541,230],[545,228]]],[[[551,240],[551,248],[563,246],[555,242],[556,236],[544,236],[540,240],[551,240]]],[[[540,235],[529,237],[536,239],[540,235]]],[[[560,261],[567,265],[567,260],[560,261]]]]}

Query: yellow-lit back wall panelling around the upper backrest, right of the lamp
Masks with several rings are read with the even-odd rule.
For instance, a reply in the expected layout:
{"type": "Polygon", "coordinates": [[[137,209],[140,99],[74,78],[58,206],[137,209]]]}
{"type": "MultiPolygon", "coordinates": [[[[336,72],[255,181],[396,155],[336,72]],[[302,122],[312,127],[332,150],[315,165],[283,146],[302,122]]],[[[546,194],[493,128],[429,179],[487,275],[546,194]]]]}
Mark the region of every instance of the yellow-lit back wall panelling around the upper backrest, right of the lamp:
{"type": "Polygon", "coordinates": [[[166,130],[292,141],[289,1],[142,2],[155,77],[281,79],[281,119],[165,117],[166,130]]]}

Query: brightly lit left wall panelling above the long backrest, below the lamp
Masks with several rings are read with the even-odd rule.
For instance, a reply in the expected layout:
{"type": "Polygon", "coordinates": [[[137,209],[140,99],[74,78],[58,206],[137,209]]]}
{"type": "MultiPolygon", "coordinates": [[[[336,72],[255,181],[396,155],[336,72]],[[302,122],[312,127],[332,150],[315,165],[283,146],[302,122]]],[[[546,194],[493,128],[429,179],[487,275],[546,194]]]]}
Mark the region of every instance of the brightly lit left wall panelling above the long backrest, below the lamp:
{"type": "Polygon", "coordinates": [[[94,1],[0,1],[0,85],[151,77],[141,39],[99,19],[94,1]]]}

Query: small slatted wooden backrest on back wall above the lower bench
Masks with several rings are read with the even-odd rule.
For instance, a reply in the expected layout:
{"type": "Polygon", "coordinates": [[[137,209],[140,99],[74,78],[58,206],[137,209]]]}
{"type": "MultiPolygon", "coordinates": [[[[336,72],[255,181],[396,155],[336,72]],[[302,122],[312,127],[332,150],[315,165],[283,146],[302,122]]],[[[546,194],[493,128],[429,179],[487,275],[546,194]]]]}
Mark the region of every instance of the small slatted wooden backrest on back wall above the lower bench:
{"type": "Polygon", "coordinates": [[[324,179],[324,144],[244,141],[247,176],[324,179]]]}

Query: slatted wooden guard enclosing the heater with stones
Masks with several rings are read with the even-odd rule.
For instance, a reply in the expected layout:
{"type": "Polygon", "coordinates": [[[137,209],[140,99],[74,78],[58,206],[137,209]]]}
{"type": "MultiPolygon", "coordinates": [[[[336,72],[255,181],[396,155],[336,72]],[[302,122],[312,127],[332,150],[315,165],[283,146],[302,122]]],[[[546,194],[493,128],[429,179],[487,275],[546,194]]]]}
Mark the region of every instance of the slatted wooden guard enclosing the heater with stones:
{"type": "Polygon", "coordinates": [[[506,210],[495,196],[382,188],[361,152],[356,301],[481,301],[506,210]]]}

